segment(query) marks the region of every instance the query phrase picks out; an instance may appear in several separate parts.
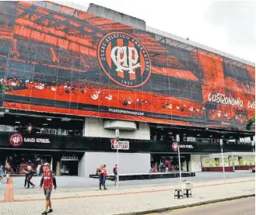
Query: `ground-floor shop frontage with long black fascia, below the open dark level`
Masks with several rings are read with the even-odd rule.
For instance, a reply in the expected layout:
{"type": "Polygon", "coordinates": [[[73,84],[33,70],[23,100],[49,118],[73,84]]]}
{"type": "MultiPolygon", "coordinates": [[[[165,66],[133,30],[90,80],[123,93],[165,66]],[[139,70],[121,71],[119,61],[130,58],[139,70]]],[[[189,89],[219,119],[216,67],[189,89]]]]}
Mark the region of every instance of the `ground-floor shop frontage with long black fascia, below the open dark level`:
{"type": "MultiPolygon", "coordinates": [[[[125,153],[120,151],[120,161],[123,159],[125,162],[125,168],[121,167],[121,172],[131,173],[142,169],[148,172],[153,166],[162,172],[163,167],[168,168],[168,171],[178,171],[178,157],[177,151],[172,148],[173,141],[128,141],[129,149],[125,153]]],[[[251,150],[251,144],[223,145],[224,153],[251,150]]],[[[180,142],[180,151],[181,169],[185,172],[197,172],[199,169],[202,170],[198,154],[219,153],[220,147],[216,142],[186,141],[180,142]]],[[[22,174],[23,168],[29,163],[33,166],[33,171],[37,172],[38,165],[47,162],[51,164],[56,175],[85,176],[94,174],[96,168],[110,160],[109,168],[112,168],[112,165],[114,167],[115,153],[116,151],[111,148],[110,138],[0,133],[0,164],[5,165],[9,162],[16,174],[22,174]]],[[[124,164],[122,166],[124,167],[124,164]]]]}

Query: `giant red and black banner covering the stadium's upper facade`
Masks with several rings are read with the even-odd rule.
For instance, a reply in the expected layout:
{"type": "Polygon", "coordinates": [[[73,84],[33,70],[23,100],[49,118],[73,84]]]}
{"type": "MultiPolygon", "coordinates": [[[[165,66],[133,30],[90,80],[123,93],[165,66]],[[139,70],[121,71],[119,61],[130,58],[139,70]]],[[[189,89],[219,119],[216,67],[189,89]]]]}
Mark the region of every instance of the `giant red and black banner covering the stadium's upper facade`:
{"type": "Polygon", "coordinates": [[[51,2],[0,2],[0,30],[4,108],[238,129],[254,116],[251,66],[51,2]]]}

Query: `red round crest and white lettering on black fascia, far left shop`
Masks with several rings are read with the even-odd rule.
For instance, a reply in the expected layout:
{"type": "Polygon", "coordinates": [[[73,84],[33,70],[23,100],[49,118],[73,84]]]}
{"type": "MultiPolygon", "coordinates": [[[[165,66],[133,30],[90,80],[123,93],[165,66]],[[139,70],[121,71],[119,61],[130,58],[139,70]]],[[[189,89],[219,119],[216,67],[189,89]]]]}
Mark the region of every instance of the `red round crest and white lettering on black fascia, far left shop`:
{"type": "Polygon", "coordinates": [[[21,134],[12,134],[10,137],[10,144],[12,146],[20,146],[23,143],[42,143],[42,144],[51,144],[50,139],[46,138],[34,138],[34,137],[23,137],[21,134]]]}

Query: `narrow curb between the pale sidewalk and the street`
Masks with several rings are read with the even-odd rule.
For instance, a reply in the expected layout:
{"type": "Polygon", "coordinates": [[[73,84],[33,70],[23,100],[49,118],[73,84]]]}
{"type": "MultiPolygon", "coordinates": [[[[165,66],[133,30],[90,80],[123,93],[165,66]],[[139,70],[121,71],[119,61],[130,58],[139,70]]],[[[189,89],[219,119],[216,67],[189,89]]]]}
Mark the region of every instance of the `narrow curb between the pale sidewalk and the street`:
{"type": "Polygon", "coordinates": [[[243,196],[233,196],[229,198],[223,198],[223,199],[213,199],[213,200],[208,200],[200,203],[191,203],[191,204],[185,204],[185,205],[180,205],[180,206],[170,206],[170,207],[163,207],[159,209],[154,209],[154,210],[144,210],[144,211],[138,211],[138,212],[130,212],[130,213],[118,213],[116,215],[142,215],[142,214],[150,214],[150,213],[163,213],[167,212],[170,210],[177,210],[177,209],[183,209],[183,208],[188,208],[188,207],[193,207],[193,206],[202,206],[206,204],[212,204],[212,203],[220,203],[220,202],[226,202],[230,200],[235,200],[235,199],[244,199],[248,197],[253,197],[255,196],[254,194],[247,194],[243,196]]]}

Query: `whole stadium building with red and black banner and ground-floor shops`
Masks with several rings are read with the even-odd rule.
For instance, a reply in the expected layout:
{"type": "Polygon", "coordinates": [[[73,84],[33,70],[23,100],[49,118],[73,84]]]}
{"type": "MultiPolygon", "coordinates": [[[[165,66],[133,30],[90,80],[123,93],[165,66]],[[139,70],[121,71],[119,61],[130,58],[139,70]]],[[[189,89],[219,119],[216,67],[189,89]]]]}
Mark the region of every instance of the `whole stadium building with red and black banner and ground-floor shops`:
{"type": "MultiPolygon", "coordinates": [[[[90,4],[0,2],[0,163],[88,177],[254,165],[254,64],[90,4]],[[127,142],[125,142],[127,143],[127,142]],[[217,154],[217,155],[212,155],[217,154]],[[212,157],[213,156],[213,157],[212,157]]],[[[241,167],[243,166],[243,167],[241,167]]]]}

